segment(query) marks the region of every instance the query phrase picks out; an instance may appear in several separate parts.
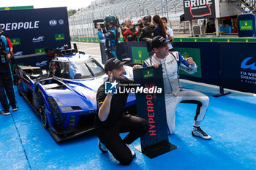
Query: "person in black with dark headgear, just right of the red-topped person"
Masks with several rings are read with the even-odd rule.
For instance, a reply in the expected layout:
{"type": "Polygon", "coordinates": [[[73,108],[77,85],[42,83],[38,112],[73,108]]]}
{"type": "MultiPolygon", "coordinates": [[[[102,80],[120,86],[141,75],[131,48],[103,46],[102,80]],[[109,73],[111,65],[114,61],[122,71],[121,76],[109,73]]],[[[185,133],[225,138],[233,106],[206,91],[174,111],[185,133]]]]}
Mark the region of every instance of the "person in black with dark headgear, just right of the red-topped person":
{"type": "Polygon", "coordinates": [[[143,38],[152,38],[154,36],[154,26],[151,24],[151,16],[146,15],[143,17],[144,27],[140,33],[139,41],[142,41],[143,38]]]}

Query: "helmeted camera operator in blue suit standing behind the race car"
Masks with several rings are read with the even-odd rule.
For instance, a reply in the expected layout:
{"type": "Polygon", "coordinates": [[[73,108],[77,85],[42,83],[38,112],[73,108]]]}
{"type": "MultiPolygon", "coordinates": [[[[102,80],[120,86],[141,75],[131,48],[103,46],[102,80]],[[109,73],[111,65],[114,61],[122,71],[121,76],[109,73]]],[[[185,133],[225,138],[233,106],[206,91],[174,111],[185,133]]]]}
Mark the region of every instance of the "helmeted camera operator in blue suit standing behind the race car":
{"type": "Polygon", "coordinates": [[[108,15],[105,17],[105,28],[102,28],[100,24],[97,25],[99,39],[106,39],[106,53],[108,58],[117,58],[116,45],[118,43],[118,36],[116,32],[116,18],[108,15]],[[103,33],[102,33],[103,31],[103,33]]]}

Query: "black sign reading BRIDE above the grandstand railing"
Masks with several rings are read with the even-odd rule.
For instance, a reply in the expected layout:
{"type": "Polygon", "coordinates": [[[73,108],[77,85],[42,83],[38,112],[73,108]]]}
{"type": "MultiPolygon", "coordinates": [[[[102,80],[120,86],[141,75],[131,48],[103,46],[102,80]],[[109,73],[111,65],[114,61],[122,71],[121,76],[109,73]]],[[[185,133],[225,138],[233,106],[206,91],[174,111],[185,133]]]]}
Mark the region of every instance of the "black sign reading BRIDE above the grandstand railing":
{"type": "Polygon", "coordinates": [[[215,0],[184,0],[185,20],[215,18],[215,0]]]}

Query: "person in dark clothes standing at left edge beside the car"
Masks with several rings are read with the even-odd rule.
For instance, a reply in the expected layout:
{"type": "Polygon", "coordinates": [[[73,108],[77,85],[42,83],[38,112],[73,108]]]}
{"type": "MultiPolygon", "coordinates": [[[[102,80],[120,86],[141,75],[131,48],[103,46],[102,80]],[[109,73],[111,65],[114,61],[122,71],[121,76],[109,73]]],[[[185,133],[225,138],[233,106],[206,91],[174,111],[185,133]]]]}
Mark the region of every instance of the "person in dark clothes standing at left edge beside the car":
{"type": "Polygon", "coordinates": [[[9,61],[7,59],[8,53],[10,53],[10,48],[8,47],[8,42],[6,37],[2,34],[0,35],[0,101],[3,110],[0,115],[10,115],[10,106],[12,111],[18,110],[16,105],[15,93],[12,85],[12,76],[10,71],[9,61]],[[7,97],[10,101],[8,104],[7,97]]]}

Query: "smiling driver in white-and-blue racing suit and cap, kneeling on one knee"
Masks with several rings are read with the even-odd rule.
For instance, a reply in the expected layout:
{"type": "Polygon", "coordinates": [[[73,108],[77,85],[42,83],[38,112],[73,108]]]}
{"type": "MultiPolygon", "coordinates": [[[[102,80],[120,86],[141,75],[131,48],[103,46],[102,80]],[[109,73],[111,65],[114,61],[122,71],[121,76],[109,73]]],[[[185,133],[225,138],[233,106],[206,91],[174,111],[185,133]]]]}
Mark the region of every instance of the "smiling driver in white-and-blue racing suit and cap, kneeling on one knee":
{"type": "Polygon", "coordinates": [[[194,74],[197,71],[197,65],[192,58],[184,59],[181,53],[176,51],[169,52],[168,42],[170,42],[170,40],[166,40],[162,36],[154,37],[151,41],[151,48],[154,51],[154,55],[144,61],[143,67],[154,66],[157,68],[162,64],[162,76],[165,88],[165,109],[170,134],[173,134],[175,129],[176,107],[178,103],[192,103],[197,104],[192,135],[203,139],[211,139],[211,136],[200,128],[200,123],[202,123],[208,108],[208,96],[195,90],[183,89],[179,84],[178,68],[183,69],[184,72],[189,74],[194,74]]]}

